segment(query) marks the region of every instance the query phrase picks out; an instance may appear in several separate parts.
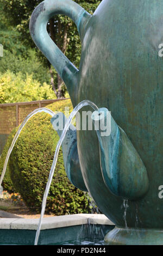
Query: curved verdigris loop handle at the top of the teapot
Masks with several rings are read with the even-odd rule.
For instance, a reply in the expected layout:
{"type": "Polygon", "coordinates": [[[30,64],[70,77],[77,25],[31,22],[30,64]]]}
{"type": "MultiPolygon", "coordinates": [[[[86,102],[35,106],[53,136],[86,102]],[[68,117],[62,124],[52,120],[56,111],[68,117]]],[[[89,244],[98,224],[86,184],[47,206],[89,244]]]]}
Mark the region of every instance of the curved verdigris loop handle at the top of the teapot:
{"type": "Polygon", "coordinates": [[[78,28],[80,38],[82,38],[84,27],[91,15],[72,0],[45,0],[37,5],[30,18],[30,35],[36,46],[57,70],[65,84],[67,86],[68,84],[70,85],[67,89],[71,94],[77,82],[79,70],[61,52],[47,32],[49,19],[58,14],[64,14],[74,21],[78,28]]]}

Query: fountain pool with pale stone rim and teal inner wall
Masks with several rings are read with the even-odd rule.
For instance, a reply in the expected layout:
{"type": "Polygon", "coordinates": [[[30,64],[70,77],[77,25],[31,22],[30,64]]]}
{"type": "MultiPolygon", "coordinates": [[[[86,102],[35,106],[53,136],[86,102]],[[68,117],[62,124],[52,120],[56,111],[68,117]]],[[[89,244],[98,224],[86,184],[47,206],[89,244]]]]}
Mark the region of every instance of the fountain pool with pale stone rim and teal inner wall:
{"type": "MultiPolygon", "coordinates": [[[[0,218],[0,245],[34,245],[39,219],[0,218]]],[[[103,214],[43,218],[38,245],[103,245],[115,225],[103,214]]]]}

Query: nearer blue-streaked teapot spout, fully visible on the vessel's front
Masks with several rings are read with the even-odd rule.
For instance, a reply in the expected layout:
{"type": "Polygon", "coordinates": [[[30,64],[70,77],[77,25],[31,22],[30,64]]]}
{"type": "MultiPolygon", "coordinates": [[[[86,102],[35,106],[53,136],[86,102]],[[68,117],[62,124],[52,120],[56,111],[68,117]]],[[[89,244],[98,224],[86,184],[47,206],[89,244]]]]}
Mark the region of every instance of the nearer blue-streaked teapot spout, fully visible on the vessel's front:
{"type": "Polygon", "coordinates": [[[98,136],[105,185],[122,198],[136,200],[143,197],[148,191],[147,170],[130,139],[108,109],[93,112],[92,120],[98,136]]]}

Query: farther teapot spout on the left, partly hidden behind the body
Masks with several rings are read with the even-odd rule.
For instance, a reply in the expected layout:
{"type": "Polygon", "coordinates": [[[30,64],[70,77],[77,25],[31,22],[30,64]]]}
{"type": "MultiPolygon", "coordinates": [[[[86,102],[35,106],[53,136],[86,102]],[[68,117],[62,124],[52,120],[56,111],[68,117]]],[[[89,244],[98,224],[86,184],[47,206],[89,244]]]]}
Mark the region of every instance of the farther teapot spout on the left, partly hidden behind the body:
{"type": "MultiPolygon", "coordinates": [[[[59,137],[62,135],[67,118],[63,113],[57,113],[51,118],[53,129],[57,131],[59,137]]],[[[71,124],[66,132],[64,141],[62,142],[62,153],[66,174],[70,182],[82,191],[87,192],[82,172],[80,170],[79,156],[77,149],[77,131],[71,124]]]]}

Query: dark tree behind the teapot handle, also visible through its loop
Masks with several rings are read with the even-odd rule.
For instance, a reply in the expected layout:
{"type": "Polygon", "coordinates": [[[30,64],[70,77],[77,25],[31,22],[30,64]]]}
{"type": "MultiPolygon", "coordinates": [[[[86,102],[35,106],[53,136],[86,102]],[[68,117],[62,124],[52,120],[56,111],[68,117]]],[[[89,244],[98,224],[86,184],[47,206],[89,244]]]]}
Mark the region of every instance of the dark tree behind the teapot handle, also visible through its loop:
{"type": "MultiPolygon", "coordinates": [[[[0,0],[3,2],[3,11],[6,19],[11,25],[14,25],[19,32],[19,38],[24,45],[35,48],[34,42],[29,34],[29,20],[34,8],[42,1],[39,0],[0,0]]],[[[92,14],[101,0],[76,0],[86,11],[92,14]]],[[[55,44],[66,54],[71,62],[79,66],[81,45],[79,34],[74,22],[66,16],[58,15],[48,22],[47,30],[55,44]]],[[[62,80],[56,72],[53,71],[48,60],[37,51],[41,62],[49,68],[51,75],[51,85],[57,97],[64,94],[62,90],[62,80]]]]}

